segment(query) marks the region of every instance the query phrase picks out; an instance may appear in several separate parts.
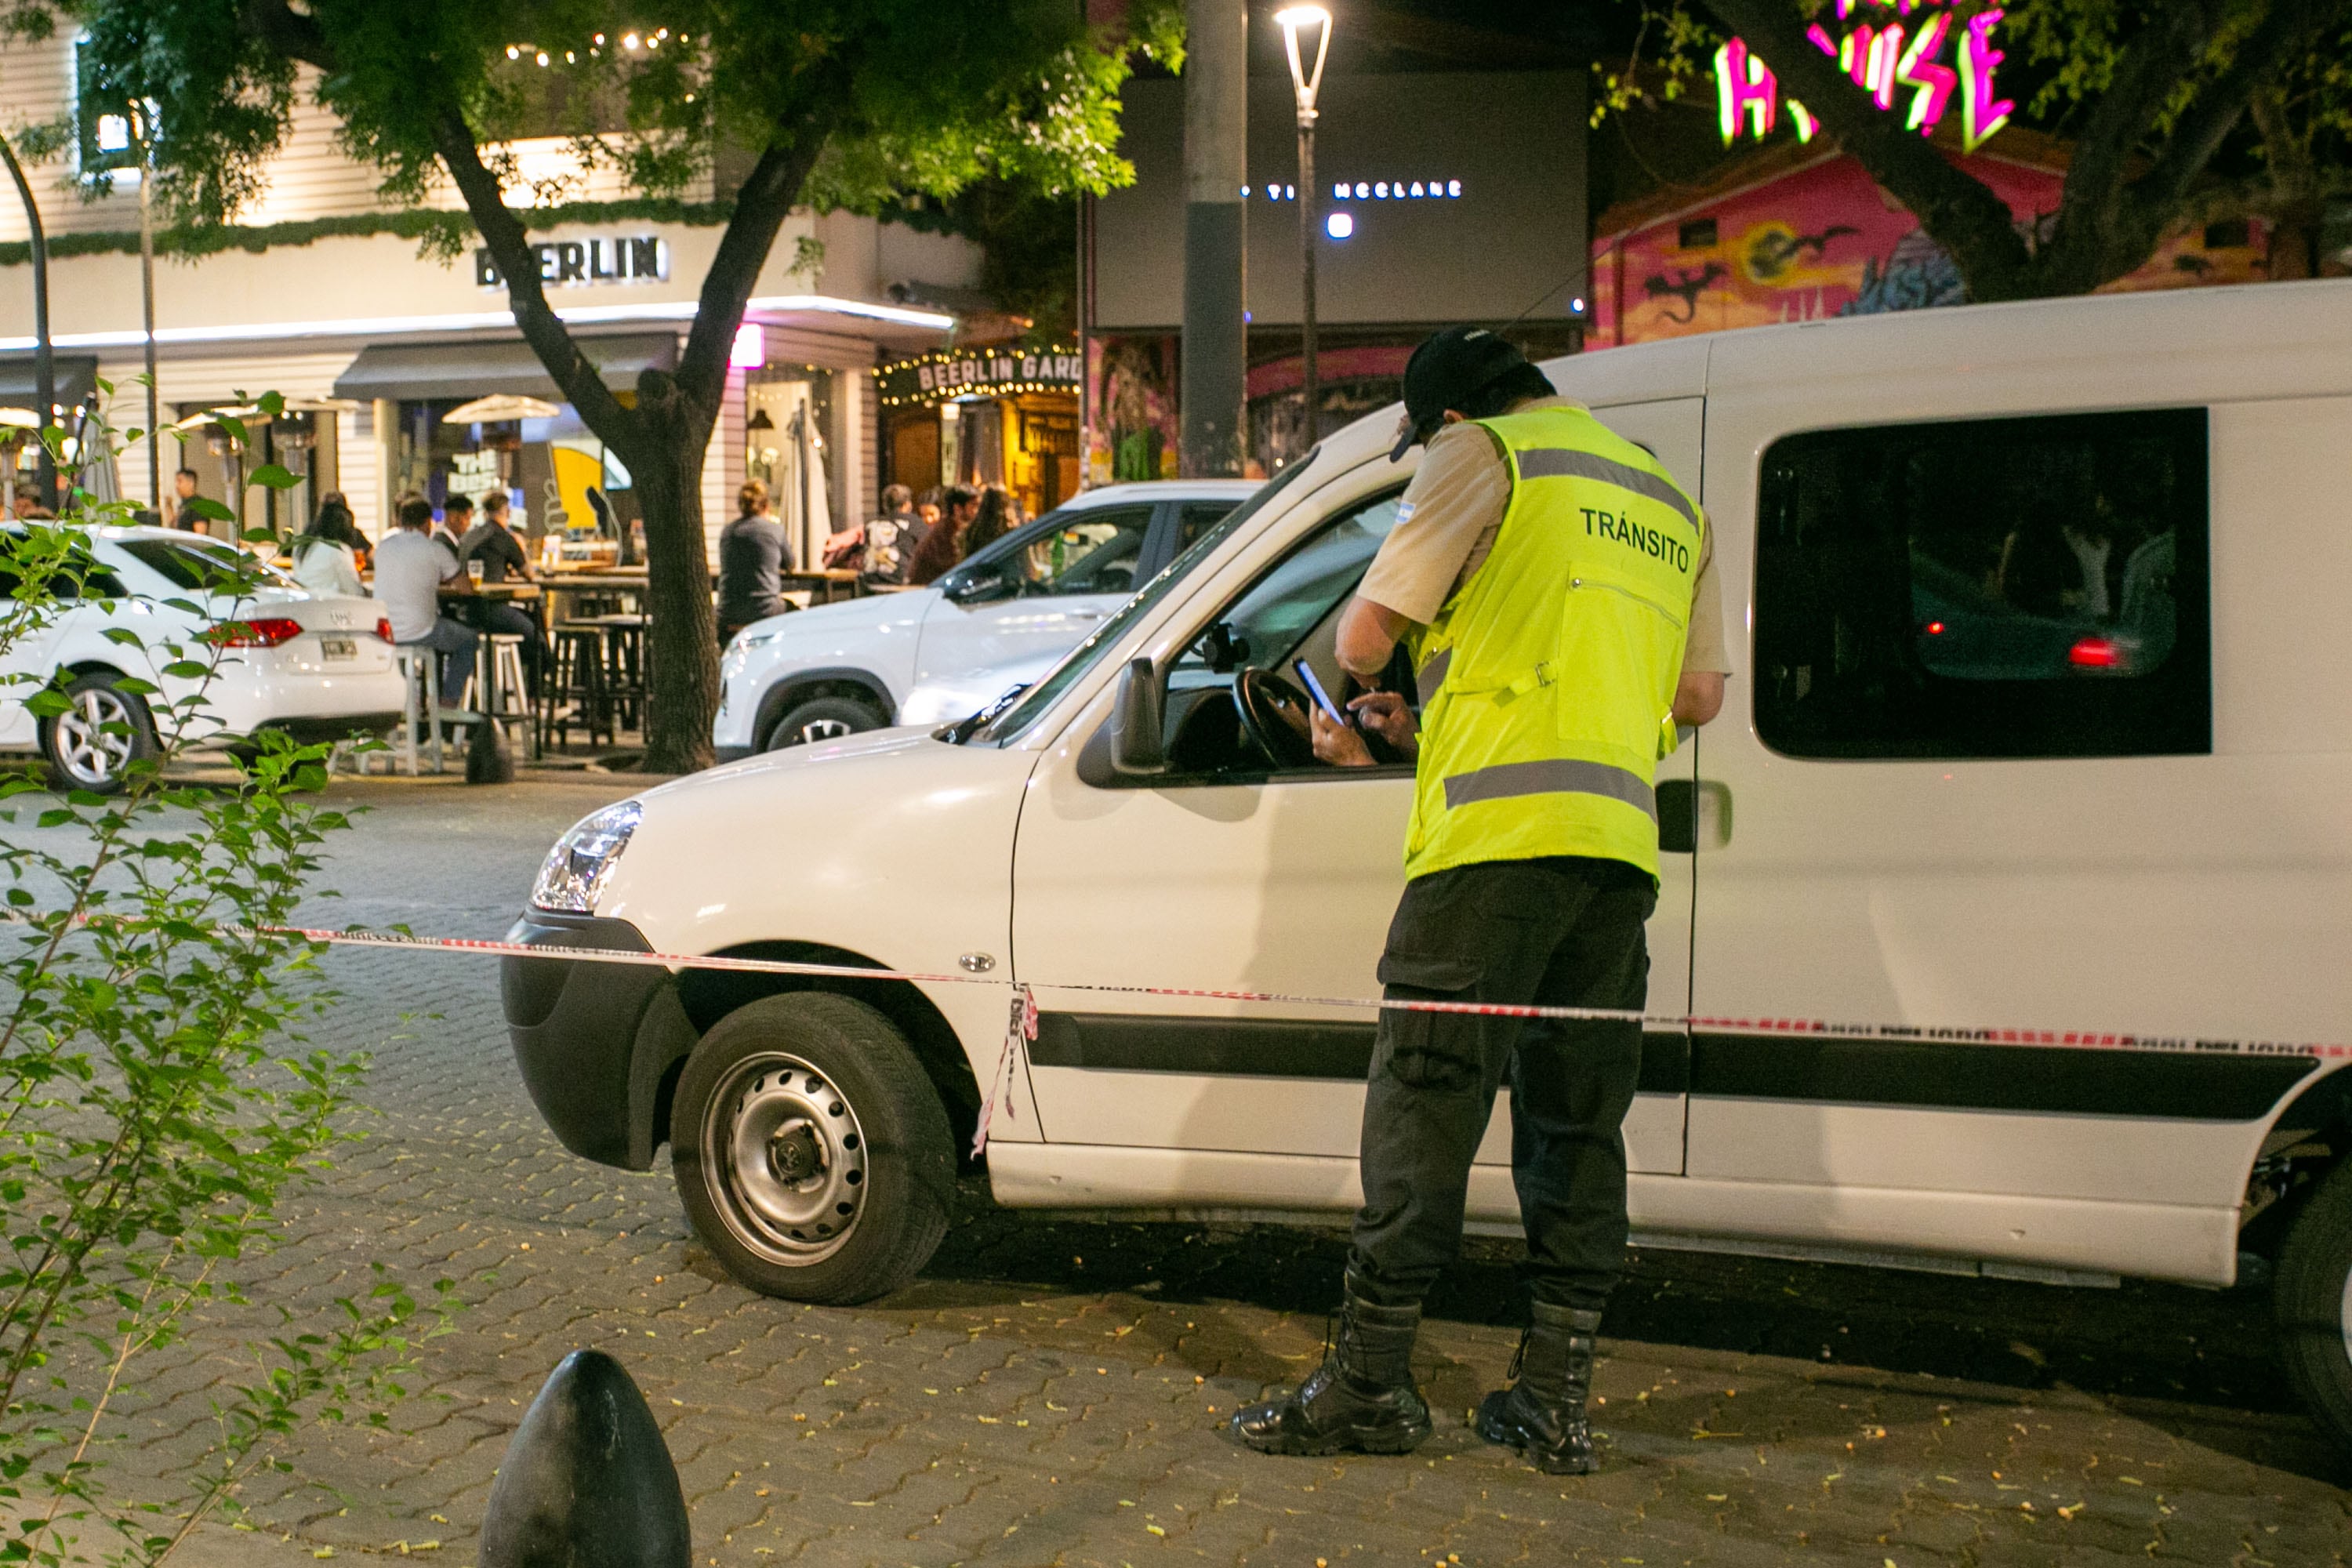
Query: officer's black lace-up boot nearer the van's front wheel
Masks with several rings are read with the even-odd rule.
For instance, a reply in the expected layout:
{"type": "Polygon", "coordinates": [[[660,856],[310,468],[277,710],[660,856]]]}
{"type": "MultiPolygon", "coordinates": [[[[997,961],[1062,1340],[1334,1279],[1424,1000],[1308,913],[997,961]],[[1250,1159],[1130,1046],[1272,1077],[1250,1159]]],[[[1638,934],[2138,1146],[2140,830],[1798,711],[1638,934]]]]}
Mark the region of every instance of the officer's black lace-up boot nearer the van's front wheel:
{"type": "Polygon", "coordinates": [[[1348,1276],[1338,1342],[1296,1394],[1244,1406],[1232,1434],[1258,1453],[1411,1453],[1430,1434],[1414,1387],[1421,1307],[1374,1307],[1348,1276]]]}

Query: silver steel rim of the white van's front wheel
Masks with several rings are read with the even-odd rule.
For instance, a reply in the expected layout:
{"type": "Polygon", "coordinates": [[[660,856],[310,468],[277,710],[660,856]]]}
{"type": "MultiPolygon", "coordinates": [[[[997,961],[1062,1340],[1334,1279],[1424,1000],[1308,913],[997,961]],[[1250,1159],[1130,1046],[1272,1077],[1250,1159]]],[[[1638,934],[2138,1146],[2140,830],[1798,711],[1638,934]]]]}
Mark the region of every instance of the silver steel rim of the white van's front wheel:
{"type": "Polygon", "coordinates": [[[727,1227],[769,1262],[823,1262],[866,1215],[866,1131],[833,1079],[797,1056],[736,1063],[710,1095],[701,1145],[727,1227]]]}

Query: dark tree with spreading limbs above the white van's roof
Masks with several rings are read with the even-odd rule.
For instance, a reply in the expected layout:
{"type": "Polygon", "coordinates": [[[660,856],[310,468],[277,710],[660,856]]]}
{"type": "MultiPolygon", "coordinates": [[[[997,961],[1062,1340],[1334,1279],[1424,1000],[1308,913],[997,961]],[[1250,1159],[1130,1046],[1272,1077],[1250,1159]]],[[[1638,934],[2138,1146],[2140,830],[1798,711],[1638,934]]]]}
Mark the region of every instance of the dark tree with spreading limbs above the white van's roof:
{"type": "MultiPolygon", "coordinates": [[[[1804,103],[1952,256],[1969,299],[2089,294],[2124,277],[2197,212],[2220,181],[2220,160],[2237,155],[2267,162],[2265,205],[2281,221],[2284,249],[2303,254],[2303,273],[2317,266],[2326,165],[2340,158],[2352,120],[2343,63],[2352,0],[2002,5],[2004,49],[2023,71],[2027,118],[2072,146],[2058,212],[2039,223],[2018,223],[1990,186],[1903,115],[1882,113],[1818,47],[1809,28],[1830,16],[1830,5],[1698,2],[1722,33],[1679,2],[1635,7],[1632,61],[1604,78],[1604,108],[1649,92],[1696,96],[1705,52],[1724,35],[1740,38],[1780,92],[1804,103]]],[[[1957,35],[1957,24],[1994,7],[1959,0],[1952,9],[1957,35]]],[[[1860,14],[1872,14],[1867,0],[1860,14]]]]}

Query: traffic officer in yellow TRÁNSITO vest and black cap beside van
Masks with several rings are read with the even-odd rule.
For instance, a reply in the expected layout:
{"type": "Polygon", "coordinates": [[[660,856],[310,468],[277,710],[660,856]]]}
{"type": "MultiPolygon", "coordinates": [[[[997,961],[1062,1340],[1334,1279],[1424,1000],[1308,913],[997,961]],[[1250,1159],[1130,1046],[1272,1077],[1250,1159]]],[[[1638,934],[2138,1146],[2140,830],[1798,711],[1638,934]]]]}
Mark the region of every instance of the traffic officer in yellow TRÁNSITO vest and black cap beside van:
{"type": "MultiPolygon", "coordinates": [[[[1357,722],[1416,755],[1388,997],[1639,1011],[1658,898],[1653,778],[1677,724],[1722,708],[1722,611],[1698,505],[1479,327],[1421,343],[1397,461],[1428,442],[1397,524],[1341,611],[1338,661],[1392,693],[1357,722]]],[[[1319,717],[1319,715],[1317,715],[1319,717]]],[[[1317,724],[1317,752],[1369,762],[1317,724]]],[[[1461,1246],[1470,1159],[1510,1084],[1531,1328],[1479,1432],[1552,1474],[1595,1467],[1592,1338],[1625,1258],[1625,1110],[1642,1027],[1383,1011],[1364,1098],[1364,1208],[1331,1354],[1249,1406],[1263,1453],[1404,1453],[1430,1432],[1411,1352],[1461,1246]]]]}

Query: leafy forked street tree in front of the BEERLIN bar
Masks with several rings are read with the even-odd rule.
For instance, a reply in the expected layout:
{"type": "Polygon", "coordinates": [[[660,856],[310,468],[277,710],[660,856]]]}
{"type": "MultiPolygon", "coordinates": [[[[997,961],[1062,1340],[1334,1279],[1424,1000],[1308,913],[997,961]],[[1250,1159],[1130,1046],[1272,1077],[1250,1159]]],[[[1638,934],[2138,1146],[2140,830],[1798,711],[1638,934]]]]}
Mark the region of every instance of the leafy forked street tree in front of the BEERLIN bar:
{"type": "MultiPolygon", "coordinates": [[[[993,176],[1047,193],[1134,179],[1117,89],[1136,49],[1169,63],[1181,12],[1145,0],[1089,26],[1070,0],[14,0],[19,31],[71,21],[111,94],[153,106],[155,197],[221,223],[263,188],[301,66],[390,205],[440,174],[463,197],[524,341],[628,465],[652,611],[649,771],[710,762],[717,642],[703,454],[727,355],[795,207],[877,212],[993,176]],[[583,169],[731,202],[675,371],[614,395],[548,306],[508,207],[517,136],[562,134],[583,169]]],[[[814,261],[800,256],[795,261],[814,261]]]]}

